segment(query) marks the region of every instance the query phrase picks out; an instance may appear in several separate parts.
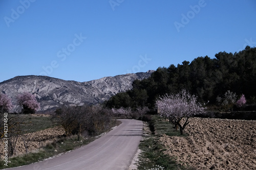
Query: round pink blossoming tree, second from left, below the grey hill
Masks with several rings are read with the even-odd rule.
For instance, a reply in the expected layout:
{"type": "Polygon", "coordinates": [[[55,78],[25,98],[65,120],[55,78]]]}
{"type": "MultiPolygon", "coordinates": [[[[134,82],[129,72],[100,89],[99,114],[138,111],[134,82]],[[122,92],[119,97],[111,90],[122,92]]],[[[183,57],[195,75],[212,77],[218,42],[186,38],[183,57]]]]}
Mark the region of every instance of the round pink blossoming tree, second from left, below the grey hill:
{"type": "Polygon", "coordinates": [[[40,104],[36,101],[33,94],[24,92],[17,96],[19,106],[23,107],[24,113],[35,113],[36,110],[40,109],[40,104]]]}

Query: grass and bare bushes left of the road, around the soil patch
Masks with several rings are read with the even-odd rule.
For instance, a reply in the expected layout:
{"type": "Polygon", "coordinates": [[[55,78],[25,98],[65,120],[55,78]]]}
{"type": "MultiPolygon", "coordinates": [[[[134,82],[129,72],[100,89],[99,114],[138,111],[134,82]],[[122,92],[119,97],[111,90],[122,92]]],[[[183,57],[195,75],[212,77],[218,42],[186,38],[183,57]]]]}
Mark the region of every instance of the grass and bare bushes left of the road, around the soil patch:
{"type": "MultiPolygon", "coordinates": [[[[8,114],[10,127],[8,127],[8,166],[4,165],[6,162],[1,161],[0,169],[42,161],[90,143],[101,133],[108,132],[112,127],[120,124],[116,119],[117,116],[112,113],[112,110],[101,106],[64,106],[57,109],[54,114],[47,116],[8,114]],[[28,151],[28,143],[31,141],[25,137],[27,134],[57,126],[63,128],[65,134],[61,137],[56,136],[53,142],[47,143],[35,151],[28,151]],[[19,139],[22,139],[23,147],[26,148],[24,154],[16,153],[19,139]]],[[[4,130],[0,130],[4,134],[4,130]]],[[[0,140],[3,142],[3,138],[0,140]]]]}

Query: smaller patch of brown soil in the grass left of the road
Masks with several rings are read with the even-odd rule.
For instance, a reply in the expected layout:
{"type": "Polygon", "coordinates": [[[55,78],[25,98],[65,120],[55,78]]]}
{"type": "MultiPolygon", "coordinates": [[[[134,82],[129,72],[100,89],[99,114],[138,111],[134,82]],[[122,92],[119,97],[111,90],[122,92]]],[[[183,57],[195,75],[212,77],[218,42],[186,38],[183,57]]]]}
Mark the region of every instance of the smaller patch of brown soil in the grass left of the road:
{"type": "MultiPolygon", "coordinates": [[[[36,151],[40,147],[46,145],[47,143],[53,142],[57,139],[57,137],[65,134],[65,130],[61,127],[49,128],[33,133],[25,134],[24,136],[19,136],[16,147],[15,147],[15,155],[21,155],[26,153],[26,148],[24,146],[24,139],[27,143],[28,152],[36,151]]],[[[0,142],[0,154],[1,157],[4,155],[4,143],[1,140],[0,142]]]]}

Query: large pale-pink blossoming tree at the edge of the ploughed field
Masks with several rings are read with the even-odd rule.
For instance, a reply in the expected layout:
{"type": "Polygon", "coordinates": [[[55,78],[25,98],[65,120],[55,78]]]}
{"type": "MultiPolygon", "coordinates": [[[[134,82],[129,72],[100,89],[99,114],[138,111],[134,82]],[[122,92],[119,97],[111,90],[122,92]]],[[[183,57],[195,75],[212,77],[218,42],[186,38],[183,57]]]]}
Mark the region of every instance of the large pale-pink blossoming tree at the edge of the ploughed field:
{"type": "Polygon", "coordinates": [[[180,134],[183,134],[183,130],[187,126],[188,118],[198,112],[203,112],[204,107],[197,102],[197,97],[191,95],[186,90],[181,90],[177,94],[164,95],[156,101],[160,116],[169,118],[170,122],[174,125],[178,125],[180,128],[180,134]],[[181,120],[185,118],[185,122],[182,125],[181,120]]]}

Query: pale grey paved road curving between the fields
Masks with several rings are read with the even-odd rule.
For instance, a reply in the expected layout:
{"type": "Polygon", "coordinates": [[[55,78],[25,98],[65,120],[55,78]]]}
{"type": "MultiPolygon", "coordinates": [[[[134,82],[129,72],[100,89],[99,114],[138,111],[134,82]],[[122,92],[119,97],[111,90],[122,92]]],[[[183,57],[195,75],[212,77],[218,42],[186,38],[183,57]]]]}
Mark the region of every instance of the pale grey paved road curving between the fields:
{"type": "Polygon", "coordinates": [[[84,147],[53,159],[12,169],[128,169],[137,152],[143,124],[139,120],[120,120],[121,125],[84,147]]]}

